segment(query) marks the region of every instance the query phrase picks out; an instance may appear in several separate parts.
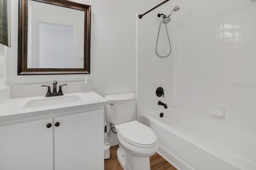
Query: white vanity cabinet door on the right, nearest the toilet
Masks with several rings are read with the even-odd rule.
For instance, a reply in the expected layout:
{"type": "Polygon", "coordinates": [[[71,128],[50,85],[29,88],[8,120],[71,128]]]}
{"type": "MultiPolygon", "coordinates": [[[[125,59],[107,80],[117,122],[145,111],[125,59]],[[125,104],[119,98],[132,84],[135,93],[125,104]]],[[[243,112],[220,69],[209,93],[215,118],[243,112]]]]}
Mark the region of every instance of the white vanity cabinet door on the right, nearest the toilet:
{"type": "Polygon", "coordinates": [[[55,117],[55,170],[103,170],[103,109],[55,117]]]}

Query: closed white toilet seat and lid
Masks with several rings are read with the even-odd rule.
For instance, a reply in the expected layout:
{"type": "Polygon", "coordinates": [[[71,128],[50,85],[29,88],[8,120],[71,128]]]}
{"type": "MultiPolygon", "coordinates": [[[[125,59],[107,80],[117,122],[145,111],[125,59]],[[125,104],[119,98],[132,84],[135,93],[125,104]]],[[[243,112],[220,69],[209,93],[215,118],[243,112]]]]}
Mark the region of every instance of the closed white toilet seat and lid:
{"type": "Polygon", "coordinates": [[[124,141],[136,147],[151,148],[157,145],[157,138],[154,131],[138,121],[120,124],[118,135],[124,141]]]}

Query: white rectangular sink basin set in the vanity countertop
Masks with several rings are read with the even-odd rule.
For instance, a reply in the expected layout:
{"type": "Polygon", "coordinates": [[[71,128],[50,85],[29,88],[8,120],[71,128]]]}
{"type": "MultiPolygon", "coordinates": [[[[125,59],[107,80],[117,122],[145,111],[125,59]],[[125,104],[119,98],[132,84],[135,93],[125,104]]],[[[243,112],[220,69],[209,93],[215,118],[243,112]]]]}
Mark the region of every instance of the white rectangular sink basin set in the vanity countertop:
{"type": "Polygon", "coordinates": [[[29,100],[26,104],[22,107],[23,109],[26,108],[34,108],[34,107],[43,107],[43,106],[52,106],[58,104],[68,104],[74,102],[81,102],[82,99],[80,96],[55,96],[43,99],[34,99],[29,100]]]}

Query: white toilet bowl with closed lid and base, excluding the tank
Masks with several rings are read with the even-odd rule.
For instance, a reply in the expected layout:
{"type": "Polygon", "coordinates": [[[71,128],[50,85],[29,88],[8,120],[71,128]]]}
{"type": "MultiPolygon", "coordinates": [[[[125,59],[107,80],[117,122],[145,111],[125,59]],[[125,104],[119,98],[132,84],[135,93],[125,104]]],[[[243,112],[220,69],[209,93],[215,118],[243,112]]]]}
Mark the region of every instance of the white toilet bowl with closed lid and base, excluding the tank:
{"type": "Polygon", "coordinates": [[[150,170],[149,157],[156,153],[158,141],[152,129],[131,121],[115,125],[119,148],[118,161],[124,170],[150,170]]]}

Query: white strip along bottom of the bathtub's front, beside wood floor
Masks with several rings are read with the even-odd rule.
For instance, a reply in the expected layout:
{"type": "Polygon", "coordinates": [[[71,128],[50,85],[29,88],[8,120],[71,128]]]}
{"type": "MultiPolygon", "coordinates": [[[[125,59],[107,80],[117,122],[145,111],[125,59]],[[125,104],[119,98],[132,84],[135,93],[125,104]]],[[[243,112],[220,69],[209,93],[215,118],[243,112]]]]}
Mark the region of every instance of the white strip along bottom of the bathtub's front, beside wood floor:
{"type": "Polygon", "coordinates": [[[159,145],[157,152],[178,170],[193,170],[193,168],[185,164],[182,160],[174,156],[168,150],[164,149],[161,145],[159,145]]]}

